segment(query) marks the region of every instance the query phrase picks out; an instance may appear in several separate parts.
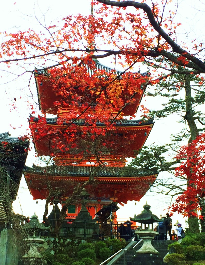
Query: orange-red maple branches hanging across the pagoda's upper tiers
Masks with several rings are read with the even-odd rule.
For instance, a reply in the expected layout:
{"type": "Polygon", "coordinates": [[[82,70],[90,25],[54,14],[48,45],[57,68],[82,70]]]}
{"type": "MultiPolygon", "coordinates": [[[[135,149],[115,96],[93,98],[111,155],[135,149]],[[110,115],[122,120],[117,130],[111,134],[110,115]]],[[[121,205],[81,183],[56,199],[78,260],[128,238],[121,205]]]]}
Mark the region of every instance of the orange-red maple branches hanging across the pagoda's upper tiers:
{"type": "MultiPolygon", "coordinates": [[[[12,64],[22,66],[24,62],[35,61],[41,65],[39,68],[43,71],[44,81],[49,79],[53,91],[59,93],[60,98],[54,102],[52,112],[56,113],[59,105],[72,105],[72,115],[67,120],[58,119],[58,125],[66,124],[62,131],[57,126],[52,130],[46,127],[45,117],[38,117],[38,125],[32,123],[34,118],[31,117],[30,126],[38,130],[39,139],[53,137],[60,151],[79,148],[84,153],[89,148],[82,150],[78,146],[79,141],[76,141],[75,122],[80,118],[85,119],[86,123],[78,133],[84,134],[85,138],[89,135],[95,141],[99,135],[105,136],[113,129],[115,120],[127,105],[135,104],[135,95],[142,93],[142,86],[144,89],[155,85],[174,74],[198,74],[199,84],[204,84],[202,43],[196,42],[193,48],[186,48],[184,44],[176,42],[176,29],[180,23],[173,23],[174,13],[170,12],[168,17],[164,15],[167,2],[162,1],[161,6],[154,3],[149,6],[148,1],[99,0],[93,3],[95,16],[67,16],[59,26],[44,27],[44,32],[39,33],[32,29],[2,33],[4,41],[1,44],[0,63],[11,67],[12,64]],[[98,69],[91,77],[88,68],[91,71],[94,69],[93,59],[106,57],[126,65],[125,70],[106,73],[98,69]],[[54,60],[56,63],[53,63],[54,60]],[[131,72],[135,64],[142,62],[149,63],[156,74],[153,71],[149,78],[145,78],[140,73],[131,72]],[[81,95],[76,93],[76,87],[81,95]],[[125,88],[128,88],[128,94],[122,101],[125,88]],[[81,105],[81,113],[76,102],[81,105]],[[118,108],[115,116],[112,114],[114,108],[118,108]],[[99,129],[96,121],[104,123],[105,128],[99,129]],[[65,143],[56,135],[67,137],[68,145],[65,147],[65,143]]],[[[38,71],[25,70],[31,75],[38,71]]],[[[46,112],[42,107],[41,111],[46,112]]],[[[34,110],[32,114],[35,114],[34,110]]],[[[116,142],[109,142],[109,146],[116,148],[116,142]]],[[[51,156],[54,156],[53,149],[51,147],[51,156]]],[[[98,151],[95,154],[100,157],[98,151]]]]}

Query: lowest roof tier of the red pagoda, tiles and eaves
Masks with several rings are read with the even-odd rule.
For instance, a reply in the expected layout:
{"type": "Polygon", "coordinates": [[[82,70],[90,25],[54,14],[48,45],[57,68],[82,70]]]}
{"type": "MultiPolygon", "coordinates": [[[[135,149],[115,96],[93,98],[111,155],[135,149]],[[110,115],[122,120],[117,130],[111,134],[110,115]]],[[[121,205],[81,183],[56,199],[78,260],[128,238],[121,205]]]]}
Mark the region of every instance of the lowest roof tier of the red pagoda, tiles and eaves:
{"type": "MultiPolygon", "coordinates": [[[[148,191],[156,174],[146,174],[131,167],[48,166],[25,167],[24,177],[34,200],[57,196],[61,204],[68,200],[77,185],[92,179],[85,186],[86,194],[78,194],[80,201],[99,210],[111,202],[126,204],[139,201],[148,191]],[[95,172],[93,175],[92,173],[95,172]]],[[[79,206],[78,206],[79,207],[79,206]]]]}

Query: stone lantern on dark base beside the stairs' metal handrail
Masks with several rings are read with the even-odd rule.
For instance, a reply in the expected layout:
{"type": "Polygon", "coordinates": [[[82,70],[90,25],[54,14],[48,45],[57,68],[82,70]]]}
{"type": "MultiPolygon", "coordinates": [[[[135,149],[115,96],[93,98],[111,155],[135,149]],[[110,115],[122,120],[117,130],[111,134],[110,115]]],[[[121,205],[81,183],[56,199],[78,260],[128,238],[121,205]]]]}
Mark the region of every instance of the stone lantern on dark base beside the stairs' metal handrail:
{"type": "Polygon", "coordinates": [[[139,250],[136,251],[136,254],[159,254],[159,252],[152,246],[151,240],[154,236],[158,235],[158,232],[155,232],[153,223],[161,222],[161,220],[150,211],[150,205],[146,204],[143,206],[144,210],[141,214],[135,215],[134,218],[130,218],[131,221],[141,223],[141,229],[136,231],[136,234],[143,239],[143,245],[139,250]],[[151,226],[151,228],[150,228],[151,226]]]}

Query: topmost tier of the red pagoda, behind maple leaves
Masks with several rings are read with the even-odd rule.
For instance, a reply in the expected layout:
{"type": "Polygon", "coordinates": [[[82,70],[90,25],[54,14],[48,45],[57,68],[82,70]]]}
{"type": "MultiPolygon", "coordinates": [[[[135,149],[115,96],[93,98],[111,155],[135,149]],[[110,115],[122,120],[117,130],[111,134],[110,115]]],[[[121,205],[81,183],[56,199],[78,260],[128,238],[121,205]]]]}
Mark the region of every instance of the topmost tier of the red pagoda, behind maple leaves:
{"type": "MultiPolygon", "coordinates": [[[[35,81],[38,93],[39,108],[43,113],[55,114],[61,117],[69,117],[72,113],[73,115],[78,115],[81,110],[84,110],[85,103],[90,104],[90,112],[95,111],[96,105],[100,103],[97,102],[96,97],[99,94],[99,89],[95,87],[103,87],[105,80],[106,82],[112,80],[109,86],[114,86],[113,94],[116,94],[117,105],[113,103],[113,98],[109,98],[106,95],[106,105],[104,109],[107,112],[115,114],[118,118],[123,116],[133,116],[137,108],[139,107],[140,101],[142,99],[144,84],[147,82],[149,73],[140,74],[135,73],[133,86],[136,87],[135,93],[129,91],[130,85],[127,83],[122,85],[123,74],[115,69],[105,67],[98,61],[95,61],[94,66],[92,65],[81,65],[76,69],[78,75],[81,76],[82,80],[75,80],[74,74],[66,74],[63,78],[48,75],[44,70],[36,70],[35,81]],[[82,73],[80,73],[82,71],[82,73]],[[103,79],[104,78],[104,79],[103,79]],[[62,80],[63,79],[63,80],[62,80]],[[66,80],[66,81],[65,81],[66,80]],[[75,81],[74,81],[75,80],[75,81]],[[90,80],[88,83],[87,80],[90,80]],[[93,82],[93,80],[98,80],[99,82],[93,82]],[[114,81],[113,81],[114,80],[114,81]],[[102,81],[102,82],[100,82],[102,81]],[[82,88],[82,83],[88,83],[88,87],[82,88]],[[67,86],[67,87],[65,87],[67,86]],[[86,96],[85,96],[86,94],[86,96]],[[73,99],[75,95],[75,99],[73,99]],[[71,112],[72,111],[72,112],[71,112]]],[[[75,72],[75,70],[73,70],[75,72]]],[[[128,77],[126,77],[129,80],[128,77]]],[[[133,77],[132,77],[133,78],[133,77]]],[[[107,84],[106,84],[107,85],[107,84]]],[[[86,85],[85,85],[86,86],[86,85]]],[[[108,87],[109,88],[109,87],[108,87]]],[[[101,89],[101,88],[100,88],[101,89]]]]}

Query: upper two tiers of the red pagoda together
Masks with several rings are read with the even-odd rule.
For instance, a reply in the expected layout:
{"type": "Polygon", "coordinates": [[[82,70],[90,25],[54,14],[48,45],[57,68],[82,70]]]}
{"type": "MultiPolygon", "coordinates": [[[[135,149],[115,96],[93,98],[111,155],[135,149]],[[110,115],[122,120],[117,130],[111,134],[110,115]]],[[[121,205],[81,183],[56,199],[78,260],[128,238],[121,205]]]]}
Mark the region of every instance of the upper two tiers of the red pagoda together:
{"type": "Polygon", "coordinates": [[[142,99],[149,74],[122,73],[92,60],[90,64],[36,70],[42,113],[30,116],[35,151],[56,165],[123,167],[144,145],[152,120],[126,120],[142,99]],[[134,88],[134,89],[133,89],[134,88]]]}

